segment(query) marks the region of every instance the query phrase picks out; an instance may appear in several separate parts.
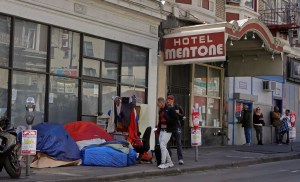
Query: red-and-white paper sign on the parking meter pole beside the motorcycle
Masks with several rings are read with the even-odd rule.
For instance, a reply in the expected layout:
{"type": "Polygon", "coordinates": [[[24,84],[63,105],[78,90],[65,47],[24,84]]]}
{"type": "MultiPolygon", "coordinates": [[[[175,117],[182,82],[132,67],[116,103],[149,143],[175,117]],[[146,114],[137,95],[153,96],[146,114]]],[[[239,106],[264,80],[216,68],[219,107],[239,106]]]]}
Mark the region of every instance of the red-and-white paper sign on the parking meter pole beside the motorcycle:
{"type": "Polygon", "coordinates": [[[22,130],[21,155],[36,154],[37,130],[22,130]]]}

